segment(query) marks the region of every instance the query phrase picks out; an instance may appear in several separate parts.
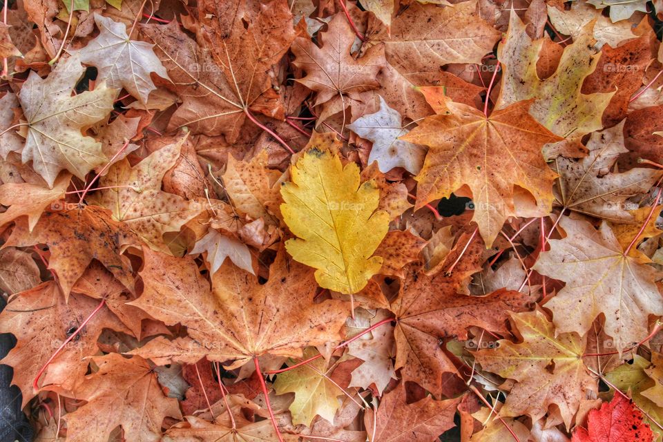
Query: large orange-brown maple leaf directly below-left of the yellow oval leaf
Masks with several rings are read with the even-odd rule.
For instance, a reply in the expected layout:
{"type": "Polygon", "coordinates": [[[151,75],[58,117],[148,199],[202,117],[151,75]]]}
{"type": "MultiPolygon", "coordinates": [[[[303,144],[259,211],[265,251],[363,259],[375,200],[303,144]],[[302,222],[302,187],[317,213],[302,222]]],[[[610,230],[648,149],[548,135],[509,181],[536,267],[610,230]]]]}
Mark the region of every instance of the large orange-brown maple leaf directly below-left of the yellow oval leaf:
{"type": "Polygon", "coordinates": [[[316,282],[311,269],[281,249],[265,285],[247,271],[225,263],[209,282],[193,260],[144,249],[140,275],[144,292],[131,305],[169,325],[182,323],[188,338],[157,338],[134,351],[157,364],[210,361],[240,367],[256,356],[302,357],[307,345],[340,339],[345,302],[312,302],[316,282]],[[296,294],[296,297],[294,297],[296,294]]]}

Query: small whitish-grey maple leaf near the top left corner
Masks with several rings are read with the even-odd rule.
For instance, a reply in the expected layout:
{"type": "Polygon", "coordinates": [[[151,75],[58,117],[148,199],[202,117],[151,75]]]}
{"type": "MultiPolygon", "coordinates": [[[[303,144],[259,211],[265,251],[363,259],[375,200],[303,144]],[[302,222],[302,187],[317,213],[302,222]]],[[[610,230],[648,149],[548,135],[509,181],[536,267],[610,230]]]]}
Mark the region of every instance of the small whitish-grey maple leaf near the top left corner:
{"type": "Polygon", "coordinates": [[[103,15],[95,13],[95,23],[99,35],[72,53],[79,56],[81,63],[97,67],[97,81],[106,80],[111,88],[125,88],[146,103],[150,92],[156,89],[150,73],[169,79],[166,68],[152,50],[154,45],[129,39],[124,23],[103,15]]]}

